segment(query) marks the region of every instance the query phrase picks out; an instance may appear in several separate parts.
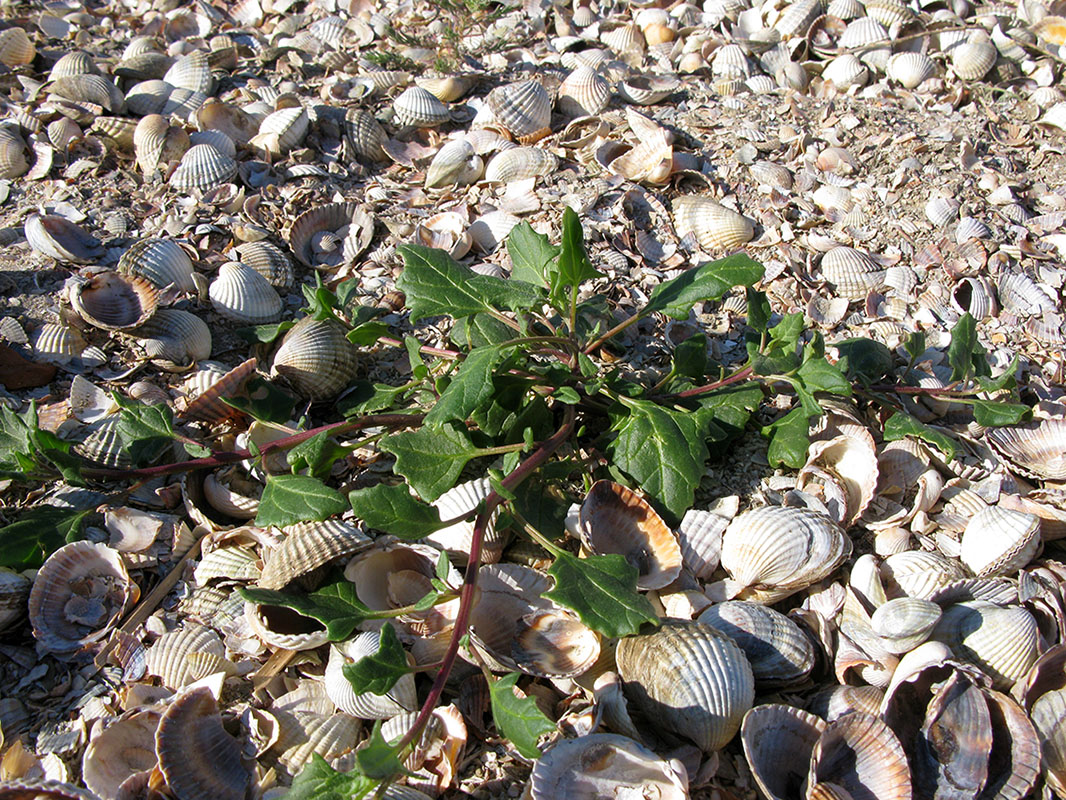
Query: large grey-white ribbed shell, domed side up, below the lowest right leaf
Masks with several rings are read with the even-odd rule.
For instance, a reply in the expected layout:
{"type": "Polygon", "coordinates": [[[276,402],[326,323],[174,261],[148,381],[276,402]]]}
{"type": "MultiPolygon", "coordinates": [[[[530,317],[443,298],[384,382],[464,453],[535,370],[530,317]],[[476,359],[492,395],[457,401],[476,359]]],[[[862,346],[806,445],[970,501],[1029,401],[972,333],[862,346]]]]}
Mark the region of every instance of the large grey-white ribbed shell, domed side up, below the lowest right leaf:
{"type": "Polygon", "coordinates": [[[744,653],[709,625],[666,620],[615,653],[626,693],[662,727],[704,752],[722,749],[752,707],[755,678],[744,653]]]}

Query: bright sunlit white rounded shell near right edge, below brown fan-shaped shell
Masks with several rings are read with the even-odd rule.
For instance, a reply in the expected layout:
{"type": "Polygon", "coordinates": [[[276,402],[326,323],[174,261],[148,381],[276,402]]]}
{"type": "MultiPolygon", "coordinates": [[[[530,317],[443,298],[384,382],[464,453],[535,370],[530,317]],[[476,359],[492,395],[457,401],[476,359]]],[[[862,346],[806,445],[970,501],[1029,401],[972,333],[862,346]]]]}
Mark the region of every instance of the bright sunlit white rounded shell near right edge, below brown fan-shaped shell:
{"type": "Polygon", "coordinates": [[[1013,575],[1036,557],[1040,544],[1038,516],[991,506],[967,523],[959,559],[979,578],[1013,575]]]}

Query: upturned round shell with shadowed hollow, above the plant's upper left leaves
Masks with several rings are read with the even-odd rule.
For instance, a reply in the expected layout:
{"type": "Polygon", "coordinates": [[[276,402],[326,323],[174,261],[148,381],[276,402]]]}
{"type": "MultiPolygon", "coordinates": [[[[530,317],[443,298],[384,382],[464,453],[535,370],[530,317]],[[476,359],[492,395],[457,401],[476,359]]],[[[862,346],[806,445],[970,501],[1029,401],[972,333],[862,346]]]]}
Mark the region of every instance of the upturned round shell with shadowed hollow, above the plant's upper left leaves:
{"type": "Polygon", "coordinates": [[[354,261],[374,236],[374,219],[355,203],[305,211],[289,230],[289,249],[306,267],[330,270],[354,261]]]}

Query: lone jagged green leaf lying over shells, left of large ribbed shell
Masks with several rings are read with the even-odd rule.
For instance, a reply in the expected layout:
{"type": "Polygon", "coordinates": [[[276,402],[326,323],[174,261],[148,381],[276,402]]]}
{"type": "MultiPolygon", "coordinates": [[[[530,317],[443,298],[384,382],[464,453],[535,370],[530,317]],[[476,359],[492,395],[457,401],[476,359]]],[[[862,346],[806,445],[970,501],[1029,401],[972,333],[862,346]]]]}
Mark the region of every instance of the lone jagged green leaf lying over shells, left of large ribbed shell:
{"type": "Polygon", "coordinates": [[[544,596],[572,608],[585,625],[603,636],[632,636],[644,623],[659,620],[650,601],[636,591],[636,567],[623,556],[579,559],[564,550],[548,574],[555,586],[544,596]]]}

